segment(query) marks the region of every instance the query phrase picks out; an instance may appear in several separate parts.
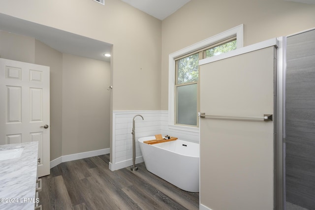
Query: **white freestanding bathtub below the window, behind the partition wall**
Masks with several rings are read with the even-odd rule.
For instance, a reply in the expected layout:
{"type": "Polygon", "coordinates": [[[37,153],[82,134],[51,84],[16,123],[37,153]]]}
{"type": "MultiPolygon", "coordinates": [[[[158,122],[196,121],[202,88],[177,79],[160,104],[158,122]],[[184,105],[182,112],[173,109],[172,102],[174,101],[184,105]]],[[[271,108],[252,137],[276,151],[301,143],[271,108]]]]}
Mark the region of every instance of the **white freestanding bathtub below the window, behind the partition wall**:
{"type": "Polygon", "coordinates": [[[154,136],[138,139],[147,170],[183,190],[199,192],[199,144],[179,139],[154,145],[143,143],[153,139],[154,136]]]}

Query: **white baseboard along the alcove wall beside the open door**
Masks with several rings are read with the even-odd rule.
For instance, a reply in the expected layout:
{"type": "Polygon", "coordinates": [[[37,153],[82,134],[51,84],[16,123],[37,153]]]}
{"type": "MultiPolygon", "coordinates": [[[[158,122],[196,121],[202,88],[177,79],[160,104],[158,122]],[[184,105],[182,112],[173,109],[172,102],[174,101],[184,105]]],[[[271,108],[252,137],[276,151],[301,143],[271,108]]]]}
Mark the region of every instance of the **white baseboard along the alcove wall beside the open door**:
{"type": "Polygon", "coordinates": [[[58,157],[58,158],[50,161],[50,168],[53,168],[53,167],[55,167],[55,166],[57,166],[63,162],[83,159],[83,158],[87,158],[87,157],[94,157],[97,155],[108,154],[108,153],[110,153],[109,148],[102,149],[102,150],[93,150],[93,151],[86,151],[86,152],[81,152],[81,153],[63,155],[61,157],[58,157]]]}

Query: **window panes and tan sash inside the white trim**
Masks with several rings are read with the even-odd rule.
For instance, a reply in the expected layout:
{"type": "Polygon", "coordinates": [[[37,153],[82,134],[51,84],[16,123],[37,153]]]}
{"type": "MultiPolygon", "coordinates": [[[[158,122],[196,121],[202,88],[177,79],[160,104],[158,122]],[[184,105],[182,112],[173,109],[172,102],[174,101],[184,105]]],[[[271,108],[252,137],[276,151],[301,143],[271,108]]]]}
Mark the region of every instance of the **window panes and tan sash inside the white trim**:
{"type": "Polygon", "coordinates": [[[198,126],[199,60],[236,49],[236,37],[175,60],[175,124],[198,126]]]}

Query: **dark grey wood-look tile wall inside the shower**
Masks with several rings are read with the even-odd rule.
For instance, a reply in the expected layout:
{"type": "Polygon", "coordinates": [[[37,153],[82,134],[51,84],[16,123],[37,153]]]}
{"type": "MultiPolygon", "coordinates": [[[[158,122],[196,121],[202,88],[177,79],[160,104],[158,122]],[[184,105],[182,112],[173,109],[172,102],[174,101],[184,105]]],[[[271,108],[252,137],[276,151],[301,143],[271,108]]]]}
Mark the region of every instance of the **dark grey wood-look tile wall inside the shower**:
{"type": "Polygon", "coordinates": [[[315,210],[315,30],[287,38],[286,201],[315,210]]]}

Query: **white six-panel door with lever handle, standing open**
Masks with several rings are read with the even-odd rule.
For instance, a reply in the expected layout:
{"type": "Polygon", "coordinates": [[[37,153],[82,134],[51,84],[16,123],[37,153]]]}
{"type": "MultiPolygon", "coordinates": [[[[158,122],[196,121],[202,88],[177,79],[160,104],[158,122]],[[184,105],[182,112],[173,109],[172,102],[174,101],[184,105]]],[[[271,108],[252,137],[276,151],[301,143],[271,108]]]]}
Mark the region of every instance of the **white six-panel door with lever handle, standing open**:
{"type": "Polygon", "coordinates": [[[38,141],[38,177],[50,174],[49,76],[48,66],[0,59],[0,144],[38,141]]]}

